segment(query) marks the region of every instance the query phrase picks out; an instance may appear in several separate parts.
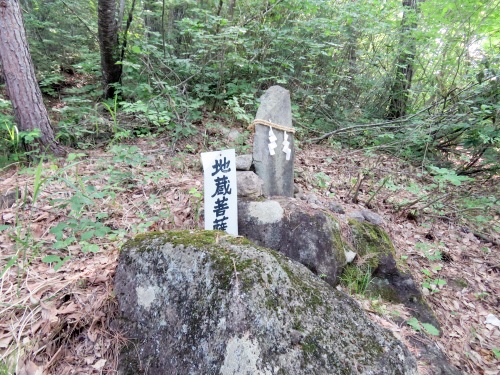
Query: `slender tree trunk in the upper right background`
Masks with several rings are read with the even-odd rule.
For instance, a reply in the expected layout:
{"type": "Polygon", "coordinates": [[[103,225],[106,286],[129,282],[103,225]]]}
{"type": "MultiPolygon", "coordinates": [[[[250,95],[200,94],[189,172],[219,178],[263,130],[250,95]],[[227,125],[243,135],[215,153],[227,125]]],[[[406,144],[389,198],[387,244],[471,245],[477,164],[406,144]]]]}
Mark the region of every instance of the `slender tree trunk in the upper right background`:
{"type": "Polygon", "coordinates": [[[399,38],[399,55],[396,61],[396,75],[390,89],[387,118],[404,117],[408,111],[408,100],[413,79],[416,42],[414,30],[417,28],[419,0],[403,0],[403,19],[399,38]]]}

